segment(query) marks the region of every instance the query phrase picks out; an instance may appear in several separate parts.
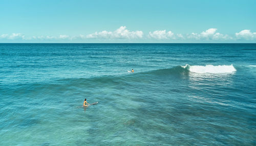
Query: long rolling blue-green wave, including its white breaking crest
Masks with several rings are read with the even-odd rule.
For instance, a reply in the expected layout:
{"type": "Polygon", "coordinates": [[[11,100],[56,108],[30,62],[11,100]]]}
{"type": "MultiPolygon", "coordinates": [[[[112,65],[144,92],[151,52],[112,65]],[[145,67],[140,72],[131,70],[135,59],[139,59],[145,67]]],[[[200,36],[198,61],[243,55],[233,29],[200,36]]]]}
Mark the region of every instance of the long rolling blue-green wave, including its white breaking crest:
{"type": "MultiPolygon", "coordinates": [[[[185,65],[151,70],[147,72],[135,72],[134,74],[125,74],[120,76],[100,76],[92,78],[68,78],[55,80],[46,83],[28,83],[18,84],[15,88],[30,88],[30,90],[73,90],[73,88],[100,88],[104,86],[119,86],[120,88],[139,84],[140,82],[154,82],[162,77],[189,76],[190,72],[196,74],[231,74],[236,71],[233,65],[185,65]]],[[[3,89],[3,88],[2,88],[3,89]]]]}

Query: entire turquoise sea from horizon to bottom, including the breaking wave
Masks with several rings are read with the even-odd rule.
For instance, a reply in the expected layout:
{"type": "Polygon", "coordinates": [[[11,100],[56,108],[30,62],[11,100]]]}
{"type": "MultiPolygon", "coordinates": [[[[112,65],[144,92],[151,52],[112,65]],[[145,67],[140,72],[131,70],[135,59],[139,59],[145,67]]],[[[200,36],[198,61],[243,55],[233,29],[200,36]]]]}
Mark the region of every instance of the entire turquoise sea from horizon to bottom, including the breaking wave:
{"type": "Polygon", "coordinates": [[[0,145],[255,145],[255,56],[256,44],[2,43],[0,145]]]}

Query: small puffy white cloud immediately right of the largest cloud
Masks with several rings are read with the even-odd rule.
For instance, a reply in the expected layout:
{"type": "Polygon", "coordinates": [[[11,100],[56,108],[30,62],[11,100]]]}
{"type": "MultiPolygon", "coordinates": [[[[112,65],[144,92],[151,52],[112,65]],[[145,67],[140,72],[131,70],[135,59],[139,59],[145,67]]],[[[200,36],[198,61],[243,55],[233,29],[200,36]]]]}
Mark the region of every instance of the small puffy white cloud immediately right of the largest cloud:
{"type": "Polygon", "coordinates": [[[154,31],[153,33],[150,32],[148,34],[148,37],[154,38],[154,39],[169,39],[169,38],[173,38],[174,39],[174,33],[171,32],[171,31],[166,32],[166,30],[154,31]]]}

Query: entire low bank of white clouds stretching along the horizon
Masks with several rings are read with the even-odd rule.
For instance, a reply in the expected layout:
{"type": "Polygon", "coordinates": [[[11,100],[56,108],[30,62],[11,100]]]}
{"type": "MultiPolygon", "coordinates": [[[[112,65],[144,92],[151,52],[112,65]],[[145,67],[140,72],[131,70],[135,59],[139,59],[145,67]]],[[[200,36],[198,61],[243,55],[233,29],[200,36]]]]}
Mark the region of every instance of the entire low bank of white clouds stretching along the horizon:
{"type": "Polygon", "coordinates": [[[256,41],[256,32],[250,30],[242,30],[233,35],[221,34],[217,32],[216,28],[210,28],[202,31],[201,33],[190,33],[190,34],[175,34],[172,31],[156,30],[149,32],[145,37],[142,31],[130,31],[125,26],[121,26],[115,31],[101,31],[95,32],[88,35],[59,35],[59,36],[29,36],[26,37],[24,34],[12,33],[12,34],[0,34],[0,40],[31,40],[31,41],[76,41],[76,40],[136,40],[136,41],[256,41]]]}

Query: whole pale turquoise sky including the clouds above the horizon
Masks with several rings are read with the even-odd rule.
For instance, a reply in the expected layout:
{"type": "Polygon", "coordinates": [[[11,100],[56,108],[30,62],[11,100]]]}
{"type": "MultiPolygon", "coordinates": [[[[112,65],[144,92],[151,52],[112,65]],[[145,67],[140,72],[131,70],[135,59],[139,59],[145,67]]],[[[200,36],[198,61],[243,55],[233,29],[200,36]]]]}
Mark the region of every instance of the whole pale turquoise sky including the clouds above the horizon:
{"type": "Polygon", "coordinates": [[[255,0],[0,0],[0,43],[256,43],[255,8],[255,0]]]}

